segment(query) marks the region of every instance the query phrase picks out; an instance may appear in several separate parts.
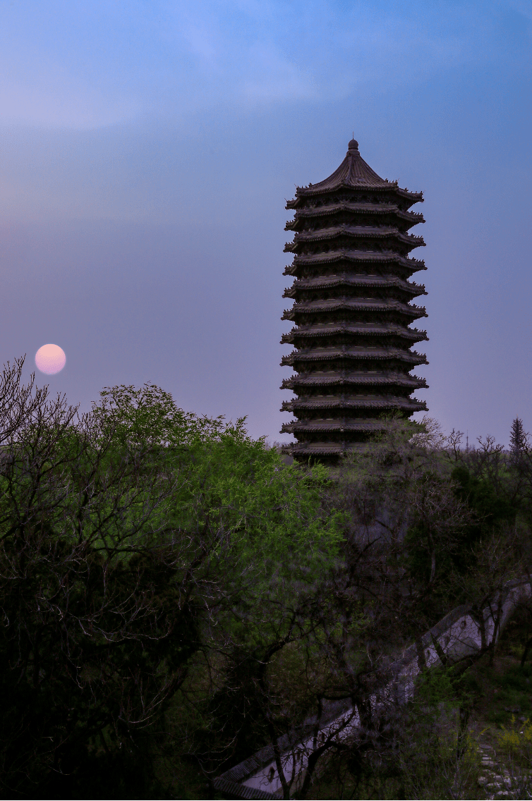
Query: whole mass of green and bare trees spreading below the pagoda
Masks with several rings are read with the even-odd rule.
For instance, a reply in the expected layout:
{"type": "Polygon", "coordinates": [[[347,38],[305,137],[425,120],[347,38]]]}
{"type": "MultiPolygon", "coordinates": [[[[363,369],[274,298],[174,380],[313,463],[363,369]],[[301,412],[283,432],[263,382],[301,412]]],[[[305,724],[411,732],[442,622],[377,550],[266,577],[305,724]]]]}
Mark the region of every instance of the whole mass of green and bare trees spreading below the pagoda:
{"type": "MultiPolygon", "coordinates": [[[[480,620],[530,569],[522,421],[505,451],[391,418],[326,469],[285,465],[244,421],[185,413],[151,384],[106,388],[80,415],[21,376],[22,360],[0,376],[3,795],[208,798],[273,743],[288,798],[281,737],[346,699],[360,731],[316,735],[299,797],[325,780],[414,797],[413,732],[433,753],[437,716],[369,699],[449,610],[480,620]]],[[[468,670],[495,650],[438,685],[458,740],[468,670]]]]}

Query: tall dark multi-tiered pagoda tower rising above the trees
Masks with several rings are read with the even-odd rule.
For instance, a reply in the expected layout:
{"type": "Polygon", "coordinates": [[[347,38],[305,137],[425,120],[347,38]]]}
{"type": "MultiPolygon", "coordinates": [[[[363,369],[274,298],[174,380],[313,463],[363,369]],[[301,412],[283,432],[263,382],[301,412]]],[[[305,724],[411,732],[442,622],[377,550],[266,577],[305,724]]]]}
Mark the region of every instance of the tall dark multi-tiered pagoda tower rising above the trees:
{"type": "Polygon", "coordinates": [[[352,139],[337,171],[298,187],[287,203],[296,215],[286,230],[295,236],[284,250],[295,256],[284,274],[296,280],[284,292],[294,304],[283,320],[294,328],[281,342],[294,350],[281,364],[296,372],[283,381],[296,398],[282,409],[296,421],[281,431],[296,437],[285,452],[298,460],[334,461],[377,433],[383,413],[409,417],[426,409],[410,397],[426,387],[410,375],[427,364],[411,350],[426,332],[409,327],[426,316],[425,308],[410,303],[426,294],[425,287],[409,281],[426,269],[409,258],[425,245],[408,233],[425,222],[409,211],[422,200],[421,192],[379,178],[352,139]]]}

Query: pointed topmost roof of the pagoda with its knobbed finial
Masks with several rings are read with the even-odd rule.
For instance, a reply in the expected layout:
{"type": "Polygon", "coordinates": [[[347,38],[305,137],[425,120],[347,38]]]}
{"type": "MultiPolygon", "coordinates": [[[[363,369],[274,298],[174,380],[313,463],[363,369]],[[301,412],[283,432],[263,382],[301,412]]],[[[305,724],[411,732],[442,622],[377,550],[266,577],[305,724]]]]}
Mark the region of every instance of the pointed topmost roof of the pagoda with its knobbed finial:
{"type": "Polygon", "coordinates": [[[397,181],[388,181],[369,167],[358,150],[358,142],[351,139],[349,149],[340,167],[332,175],[320,183],[309,183],[308,187],[297,187],[296,198],[289,200],[287,208],[295,208],[302,196],[320,195],[323,192],[332,191],[341,187],[351,187],[355,189],[391,189],[397,191],[399,195],[413,200],[414,203],[423,200],[422,192],[409,192],[400,189],[397,181]]]}

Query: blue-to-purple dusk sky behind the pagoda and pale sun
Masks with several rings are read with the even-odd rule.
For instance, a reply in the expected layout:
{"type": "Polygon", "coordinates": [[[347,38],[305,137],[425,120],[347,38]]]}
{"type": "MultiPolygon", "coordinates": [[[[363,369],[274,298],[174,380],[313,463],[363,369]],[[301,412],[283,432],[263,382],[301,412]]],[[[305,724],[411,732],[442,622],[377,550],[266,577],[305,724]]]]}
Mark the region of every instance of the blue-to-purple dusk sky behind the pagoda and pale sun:
{"type": "MultiPolygon", "coordinates": [[[[285,211],[353,133],[423,191],[429,415],[532,430],[532,0],[0,0],[0,364],[279,433],[285,211]]],[[[421,253],[421,252],[417,252],[421,253]]]]}

